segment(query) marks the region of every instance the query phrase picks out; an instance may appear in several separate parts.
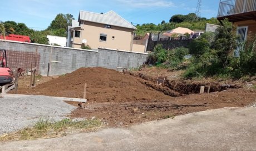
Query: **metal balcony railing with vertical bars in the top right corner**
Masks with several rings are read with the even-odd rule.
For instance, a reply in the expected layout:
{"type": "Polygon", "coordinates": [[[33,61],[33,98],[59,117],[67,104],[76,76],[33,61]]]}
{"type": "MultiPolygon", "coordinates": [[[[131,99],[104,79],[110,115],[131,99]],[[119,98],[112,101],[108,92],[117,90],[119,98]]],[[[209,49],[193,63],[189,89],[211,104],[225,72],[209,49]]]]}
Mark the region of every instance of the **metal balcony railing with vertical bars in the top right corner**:
{"type": "Polygon", "coordinates": [[[256,11],[256,0],[220,0],[218,17],[256,11]]]}

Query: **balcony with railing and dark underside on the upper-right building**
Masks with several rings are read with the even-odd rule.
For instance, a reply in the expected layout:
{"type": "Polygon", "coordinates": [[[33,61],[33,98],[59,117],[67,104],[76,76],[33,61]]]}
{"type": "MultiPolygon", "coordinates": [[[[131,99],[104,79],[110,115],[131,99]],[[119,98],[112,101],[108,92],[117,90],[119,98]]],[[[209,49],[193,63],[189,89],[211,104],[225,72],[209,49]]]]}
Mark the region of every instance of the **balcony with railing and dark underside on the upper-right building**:
{"type": "Polygon", "coordinates": [[[217,18],[222,20],[228,18],[229,21],[245,21],[255,19],[256,0],[220,0],[217,18]]]}

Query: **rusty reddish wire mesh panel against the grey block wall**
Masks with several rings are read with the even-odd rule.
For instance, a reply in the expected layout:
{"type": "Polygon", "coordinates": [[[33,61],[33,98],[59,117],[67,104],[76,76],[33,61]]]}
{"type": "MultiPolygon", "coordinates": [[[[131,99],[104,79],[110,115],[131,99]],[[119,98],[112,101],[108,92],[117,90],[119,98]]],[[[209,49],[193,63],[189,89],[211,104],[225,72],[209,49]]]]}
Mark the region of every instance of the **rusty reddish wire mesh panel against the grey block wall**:
{"type": "Polygon", "coordinates": [[[40,53],[37,52],[19,52],[7,51],[7,66],[11,69],[21,68],[24,71],[30,71],[32,68],[39,71],[40,53]]]}

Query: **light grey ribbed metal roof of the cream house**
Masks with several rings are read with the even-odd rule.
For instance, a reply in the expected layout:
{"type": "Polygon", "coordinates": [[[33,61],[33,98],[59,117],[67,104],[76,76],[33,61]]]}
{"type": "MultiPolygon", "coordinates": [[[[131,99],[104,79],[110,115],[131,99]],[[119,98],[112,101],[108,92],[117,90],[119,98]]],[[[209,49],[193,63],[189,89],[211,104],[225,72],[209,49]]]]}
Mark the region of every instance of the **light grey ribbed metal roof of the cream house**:
{"type": "Polygon", "coordinates": [[[95,22],[95,23],[109,24],[112,26],[137,29],[131,23],[126,21],[124,18],[119,16],[119,14],[115,13],[114,11],[110,11],[104,14],[80,11],[79,18],[83,21],[88,21],[88,22],[95,22]]]}

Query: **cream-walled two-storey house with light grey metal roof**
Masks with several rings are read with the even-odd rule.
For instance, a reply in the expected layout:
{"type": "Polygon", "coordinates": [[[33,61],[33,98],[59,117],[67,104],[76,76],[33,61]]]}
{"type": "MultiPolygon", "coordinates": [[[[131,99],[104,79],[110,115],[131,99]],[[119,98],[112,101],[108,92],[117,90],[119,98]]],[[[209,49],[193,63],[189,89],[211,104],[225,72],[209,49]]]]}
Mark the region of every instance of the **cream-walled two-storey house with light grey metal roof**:
{"type": "Polygon", "coordinates": [[[114,11],[80,11],[78,20],[72,21],[72,27],[68,27],[67,47],[81,48],[84,44],[92,49],[132,52],[135,29],[136,27],[114,11]]]}

